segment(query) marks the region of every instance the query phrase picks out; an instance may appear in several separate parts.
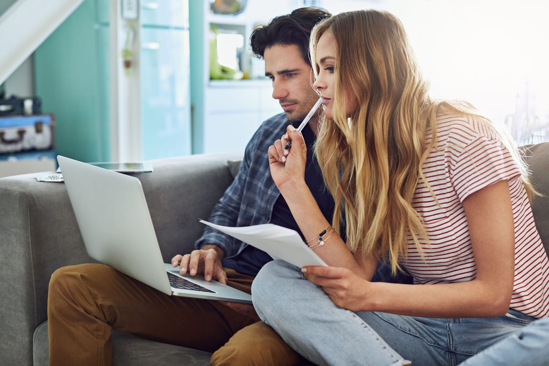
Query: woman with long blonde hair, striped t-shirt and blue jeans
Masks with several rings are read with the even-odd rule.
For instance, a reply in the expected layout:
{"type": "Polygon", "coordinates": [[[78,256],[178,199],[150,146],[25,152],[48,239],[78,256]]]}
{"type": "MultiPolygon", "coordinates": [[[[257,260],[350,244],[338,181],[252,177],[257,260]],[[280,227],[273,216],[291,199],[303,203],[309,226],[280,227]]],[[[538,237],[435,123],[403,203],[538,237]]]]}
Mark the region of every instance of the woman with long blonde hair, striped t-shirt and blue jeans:
{"type": "Polygon", "coordinates": [[[535,192],[512,140],[469,104],[429,98],[389,13],[321,22],[311,59],[332,223],[304,184],[306,150],[293,127],[268,154],[307,245],[329,267],[267,264],[252,290],[261,319],[321,365],[456,365],[548,317],[535,192]],[[380,260],[414,284],[372,283],[380,260]]]}

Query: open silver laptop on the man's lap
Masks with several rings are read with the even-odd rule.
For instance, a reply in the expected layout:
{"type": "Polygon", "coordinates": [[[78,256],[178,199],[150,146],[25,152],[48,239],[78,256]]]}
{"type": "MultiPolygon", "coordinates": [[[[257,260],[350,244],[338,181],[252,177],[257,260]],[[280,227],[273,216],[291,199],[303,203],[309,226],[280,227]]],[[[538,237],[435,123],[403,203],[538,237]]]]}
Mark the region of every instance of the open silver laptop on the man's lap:
{"type": "Polygon", "coordinates": [[[57,161],[94,260],[168,295],[251,303],[245,292],[164,263],[139,179],[60,155],[57,161]]]}

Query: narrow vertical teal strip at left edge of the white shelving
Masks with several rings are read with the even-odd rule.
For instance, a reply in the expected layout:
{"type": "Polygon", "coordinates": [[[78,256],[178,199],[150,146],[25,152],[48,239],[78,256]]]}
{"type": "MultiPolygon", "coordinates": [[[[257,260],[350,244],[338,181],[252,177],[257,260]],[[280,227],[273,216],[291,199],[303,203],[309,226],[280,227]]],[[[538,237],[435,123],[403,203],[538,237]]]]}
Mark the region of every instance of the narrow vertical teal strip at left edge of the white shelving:
{"type": "Polygon", "coordinates": [[[202,57],[204,46],[204,4],[202,0],[189,1],[189,48],[191,57],[191,129],[192,153],[204,151],[204,65],[209,67],[202,57]]]}

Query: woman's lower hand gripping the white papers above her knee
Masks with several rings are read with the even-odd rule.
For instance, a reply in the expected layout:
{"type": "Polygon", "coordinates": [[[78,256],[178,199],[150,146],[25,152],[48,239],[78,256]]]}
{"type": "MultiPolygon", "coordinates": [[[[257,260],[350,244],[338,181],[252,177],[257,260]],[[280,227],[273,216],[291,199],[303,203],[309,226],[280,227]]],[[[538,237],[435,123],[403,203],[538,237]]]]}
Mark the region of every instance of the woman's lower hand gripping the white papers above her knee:
{"type": "Polygon", "coordinates": [[[307,266],[301,269],[305,278],[322,286],[333,303],[350,311],[368,311],[371,283],[343,267],[307,266]]]}

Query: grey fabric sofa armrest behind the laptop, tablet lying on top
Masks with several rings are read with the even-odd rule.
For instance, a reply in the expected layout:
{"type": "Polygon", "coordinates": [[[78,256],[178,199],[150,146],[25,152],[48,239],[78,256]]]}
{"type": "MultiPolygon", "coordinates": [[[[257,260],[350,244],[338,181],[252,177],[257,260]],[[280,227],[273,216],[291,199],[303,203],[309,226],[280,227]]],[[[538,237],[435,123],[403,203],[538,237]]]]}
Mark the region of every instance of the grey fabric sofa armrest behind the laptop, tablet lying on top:
{"type": "MultiPolygon", "coordinates": [[[[188,252],[232,182],[227,160],[242,153],[154,160],[143,185],[164,261],[188,252]]],[[[86,253],[63,183],[36,173],[0,178],[0,364],[32,365],[32,335],[47,318],[55,269],[94,262],[86,253]]]]}

